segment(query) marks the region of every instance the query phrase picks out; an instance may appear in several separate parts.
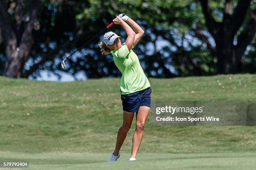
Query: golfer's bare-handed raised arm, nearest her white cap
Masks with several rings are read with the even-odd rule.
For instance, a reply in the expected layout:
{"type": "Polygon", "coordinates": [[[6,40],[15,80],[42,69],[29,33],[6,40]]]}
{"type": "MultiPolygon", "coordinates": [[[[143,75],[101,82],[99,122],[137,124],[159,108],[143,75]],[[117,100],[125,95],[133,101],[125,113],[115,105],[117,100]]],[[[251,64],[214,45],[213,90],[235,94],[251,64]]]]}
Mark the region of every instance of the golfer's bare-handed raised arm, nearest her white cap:
{"type": "Polygon", "coordinates": [[[128,47],[128,50],[131,50],[131,47],[133,46],[134,38],[135,38],[135,33],[133,32],[133,29],[125,23],[121,18],[115,18],[113,20],[115,24],[120,24],[122,25],[123,29],[125,30],[127,34],[127,38],[125,40],[125,45],[128,47]]]}

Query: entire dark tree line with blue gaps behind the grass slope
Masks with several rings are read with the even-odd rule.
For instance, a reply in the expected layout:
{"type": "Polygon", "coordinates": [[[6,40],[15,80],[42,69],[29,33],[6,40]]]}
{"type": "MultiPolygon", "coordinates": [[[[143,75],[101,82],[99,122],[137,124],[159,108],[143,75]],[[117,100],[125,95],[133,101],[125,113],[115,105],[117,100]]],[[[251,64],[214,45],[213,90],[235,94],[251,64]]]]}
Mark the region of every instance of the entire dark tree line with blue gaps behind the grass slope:
{"type": "MultiPolygon", "coordinates": [[[[60,75],[61,60],[127,13],[145,30],[136,50],[151,77],[255,72],[255,0],[0,0],[0,74],[60,75]],[[122,10],[122,11],[121,11],[122,10]],[[165,43],[163,45],[163,42],[165,43]],[[249,50],[246,48],[249,45],[249,50]]],[[[114,25],[125,40],[125,32],[114,25]]],[[[99,37],[100,39],[100,37],[99,37]]],[[[119,76],[94,40],[68,61],[66,72],[119,76]]]]}

